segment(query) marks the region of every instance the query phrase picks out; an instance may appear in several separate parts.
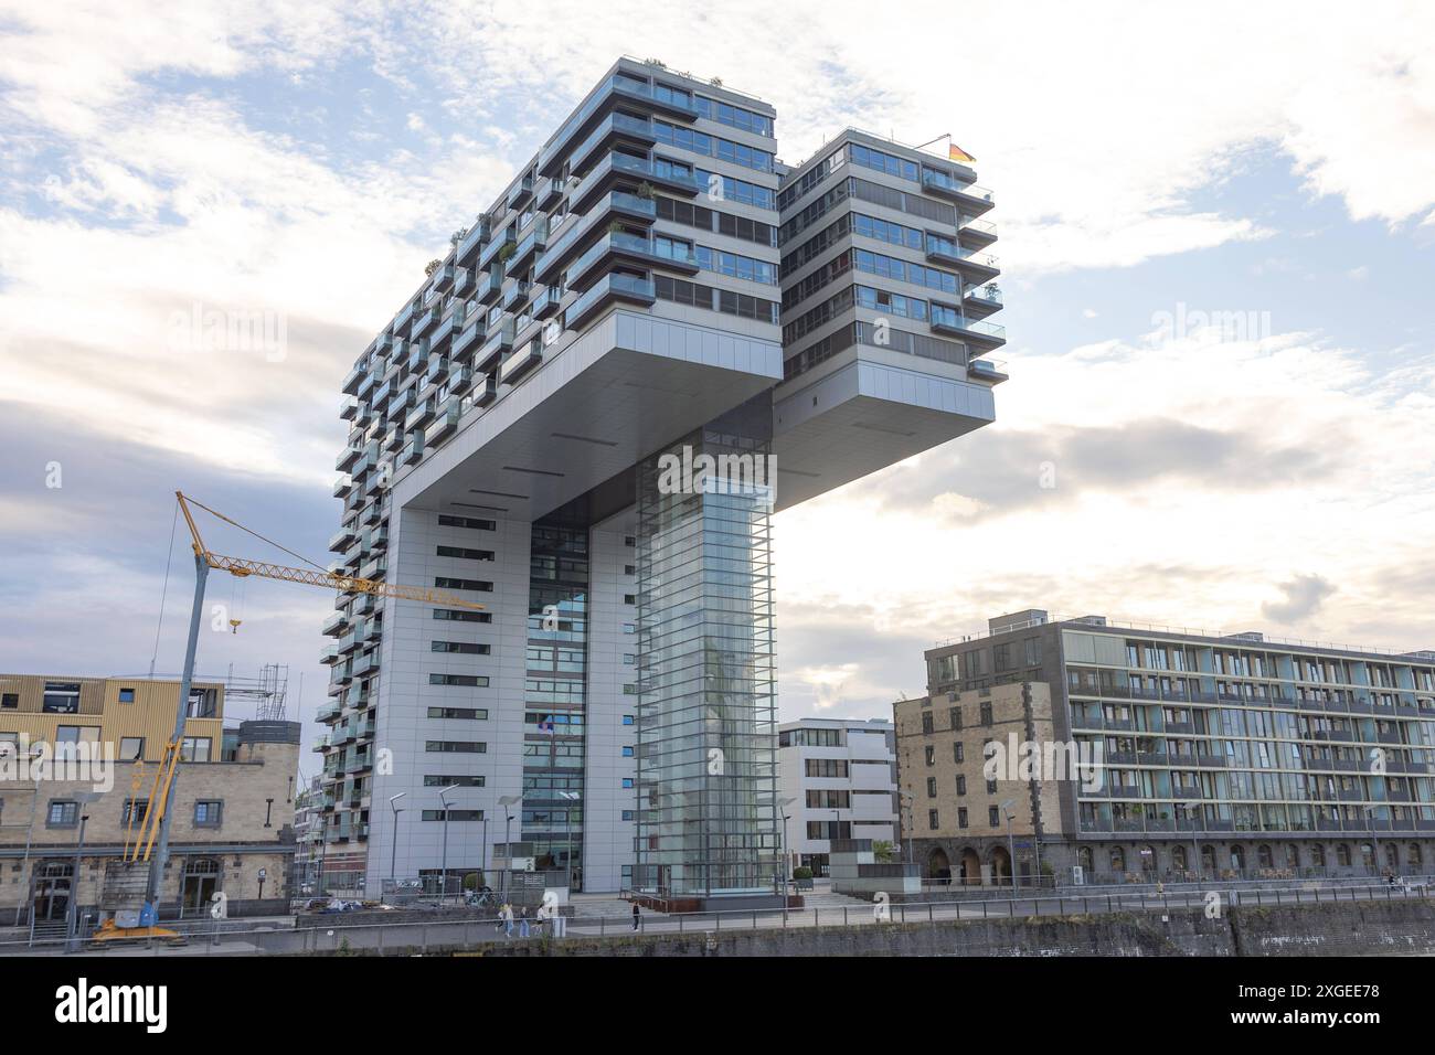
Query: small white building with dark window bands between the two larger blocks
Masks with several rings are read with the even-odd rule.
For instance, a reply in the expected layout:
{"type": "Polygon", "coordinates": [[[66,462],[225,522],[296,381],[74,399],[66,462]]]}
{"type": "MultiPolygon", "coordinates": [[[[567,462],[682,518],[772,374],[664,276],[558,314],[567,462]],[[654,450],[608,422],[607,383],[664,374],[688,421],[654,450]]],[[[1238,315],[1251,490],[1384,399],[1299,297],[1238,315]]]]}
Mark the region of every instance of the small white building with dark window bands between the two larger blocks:
{"type": "Polygon", "coordinates": [[[832,840],[897,843],[897,751],[885,718],[804,718],[778,731],[788,874],[828,874],[832,840]]]}

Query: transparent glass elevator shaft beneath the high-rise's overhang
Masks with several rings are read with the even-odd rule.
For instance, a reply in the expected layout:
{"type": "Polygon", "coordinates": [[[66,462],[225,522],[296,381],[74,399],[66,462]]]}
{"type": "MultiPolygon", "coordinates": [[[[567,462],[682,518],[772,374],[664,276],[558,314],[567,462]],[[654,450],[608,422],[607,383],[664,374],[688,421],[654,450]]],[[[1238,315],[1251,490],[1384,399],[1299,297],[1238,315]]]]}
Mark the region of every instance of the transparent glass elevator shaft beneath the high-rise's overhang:
{"type": "Polygon", "coordinates": [[[644,891],[761,894],[776,881],[771,429],[758,398],[639,466],[644,891]]]}

